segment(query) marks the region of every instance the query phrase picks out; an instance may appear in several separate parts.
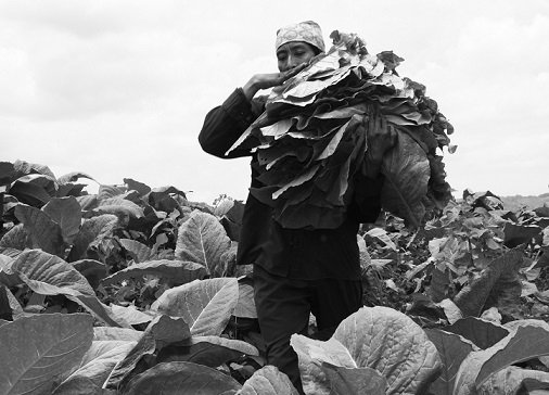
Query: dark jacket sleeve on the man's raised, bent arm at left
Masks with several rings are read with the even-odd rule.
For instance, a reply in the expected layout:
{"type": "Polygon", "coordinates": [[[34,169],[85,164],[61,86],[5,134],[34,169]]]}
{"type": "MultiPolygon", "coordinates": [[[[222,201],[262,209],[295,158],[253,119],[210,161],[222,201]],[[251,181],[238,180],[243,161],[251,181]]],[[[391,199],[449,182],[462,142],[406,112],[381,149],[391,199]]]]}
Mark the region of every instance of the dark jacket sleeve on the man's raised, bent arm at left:
{"type": "Polygon", "coordinates": [[[199,135],[202,149],[208,154],[221,158],[250,156],[248,150],[234,150],[225,153],[250,125],[259,116],[263,103],[254,99],[250,102],[242,88],[238,88],[219,106],[207,113],[199,135]]]}

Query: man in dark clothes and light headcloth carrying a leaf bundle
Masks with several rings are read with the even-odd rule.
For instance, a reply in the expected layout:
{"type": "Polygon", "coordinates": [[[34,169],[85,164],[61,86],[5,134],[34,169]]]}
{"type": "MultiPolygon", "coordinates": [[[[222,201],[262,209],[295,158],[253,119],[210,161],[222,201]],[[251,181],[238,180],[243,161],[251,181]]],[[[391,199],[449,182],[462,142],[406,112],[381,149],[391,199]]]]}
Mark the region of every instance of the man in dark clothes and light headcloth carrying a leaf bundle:
{"type": "MultiPolygon", "coordinates": [[[[324,52],[320,26],[311,21],[280,28],[276,38],[279,73],[256,74],[213,109],[199,136],[202,149],[215,156],[252,156],[252,188],[260,187],[255,154],[225,153],[264,112],[261,89],[282,85],[317,54],[324,52]]],[[[372,129],[372,128],[370,128],[372,129]]],[[[373,128],[374,129],[374,128],[373,128]]],[[[357,232],[360,222],[373,222],[381,211],[379,175],[383,153],[394,144],[388,133],[368,136],[371,178],[360,180],[360,196],[335,229],[285,229],[272,219],[271,208],[248,194],[242,219],[237,263],[253,264],[254,298],[269,365],[286,373],[303,392],[297,356],[290,346],[293,333],[307,333],[309,315],[316,317],[319,339],[328,340],[339,323],[362,306],[357,232]]],[[[394,137],[394,136],[393,136],[394,137]]]]}

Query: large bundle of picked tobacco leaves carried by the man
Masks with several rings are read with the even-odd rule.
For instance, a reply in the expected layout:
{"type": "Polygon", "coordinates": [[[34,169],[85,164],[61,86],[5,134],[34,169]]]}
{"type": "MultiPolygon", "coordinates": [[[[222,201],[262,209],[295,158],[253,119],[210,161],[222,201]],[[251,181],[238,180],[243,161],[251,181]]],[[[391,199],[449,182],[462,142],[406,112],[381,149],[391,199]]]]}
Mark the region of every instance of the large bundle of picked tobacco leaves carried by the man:
{"type": "Polygon", "coordinates": [[[256,152],[264,187],[251,193],[273,207],[283,227],[335,228],[368,166],[367,129],[376,124],[368,120],[381,116],[397,133],[381,168],[383,208],[420,226],[426,209],[451,199],[437,150],[454,151],[447,136],[454,128],[424,86],[398,75],[403,59],[392,51],[371,55],[354,34],[330,37],[330,51],[274,88],[228,152],[256,152]]]}

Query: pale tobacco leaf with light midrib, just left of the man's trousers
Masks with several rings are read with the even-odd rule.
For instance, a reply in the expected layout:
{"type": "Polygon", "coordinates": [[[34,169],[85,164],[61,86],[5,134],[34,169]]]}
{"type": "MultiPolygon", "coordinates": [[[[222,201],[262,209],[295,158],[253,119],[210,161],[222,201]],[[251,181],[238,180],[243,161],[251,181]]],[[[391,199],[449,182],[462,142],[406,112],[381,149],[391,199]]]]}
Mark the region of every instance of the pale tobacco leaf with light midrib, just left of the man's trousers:
{"type": "Polygon", "coordinates": [[[194,280],[165,291],[151,309],[182,317],[193,335],[219,335],[239,298],[235,278],[194,280]]]}

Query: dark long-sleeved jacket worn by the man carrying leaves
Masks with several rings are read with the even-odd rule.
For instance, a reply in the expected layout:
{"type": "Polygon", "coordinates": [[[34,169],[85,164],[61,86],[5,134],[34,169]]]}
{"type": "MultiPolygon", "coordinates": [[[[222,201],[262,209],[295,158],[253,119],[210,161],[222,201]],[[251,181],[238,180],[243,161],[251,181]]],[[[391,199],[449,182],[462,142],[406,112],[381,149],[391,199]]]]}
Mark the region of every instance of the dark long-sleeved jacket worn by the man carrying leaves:
{"type": "MultiPolygon", "coordinates": [[[[263,113],[265,99],[245,98],[237,89],[220,106],[205,118],[199,141],[202,149],[221,158],[251,155],[247,151],[225,153],[263,113]]],[[[252,164],[256,162],[252,155],[252,164]]],[[[252,166],[252,188],[260,187],[252,166]]],[[[285,229],[271,217],[271,208],[248,194],[242,219],[237,262],[256,264],[272,275],[297,279],[360,278],[357,232],[360,222],[373,222],[381,204],[381,178],[362,179],[368,193],[354,202],[345,221],[335,229],[285,229]]],[[[365,186],[362,186],[362,190],[365,186]]]]}

